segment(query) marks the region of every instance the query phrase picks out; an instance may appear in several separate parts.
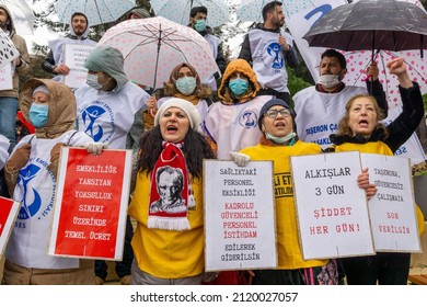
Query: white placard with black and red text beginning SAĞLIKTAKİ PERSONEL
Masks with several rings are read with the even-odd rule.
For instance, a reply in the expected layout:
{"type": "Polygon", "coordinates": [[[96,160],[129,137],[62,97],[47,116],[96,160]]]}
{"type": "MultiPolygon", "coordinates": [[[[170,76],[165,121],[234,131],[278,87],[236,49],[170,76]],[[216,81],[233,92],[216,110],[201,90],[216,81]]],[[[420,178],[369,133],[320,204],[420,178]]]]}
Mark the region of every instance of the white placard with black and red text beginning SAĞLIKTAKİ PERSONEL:
{"type": "Polygon", "coordinates": [[[272,161],[204,161],[205,270],[277,266],[272,161]]]}

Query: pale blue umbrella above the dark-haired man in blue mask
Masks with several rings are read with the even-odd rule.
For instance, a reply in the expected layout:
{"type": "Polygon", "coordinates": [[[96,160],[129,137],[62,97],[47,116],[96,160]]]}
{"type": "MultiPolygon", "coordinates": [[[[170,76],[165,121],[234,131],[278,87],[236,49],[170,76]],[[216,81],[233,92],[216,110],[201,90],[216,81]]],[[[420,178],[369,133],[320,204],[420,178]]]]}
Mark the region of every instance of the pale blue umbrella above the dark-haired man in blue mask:
{"type": "Polygon", "coordinates": [[[211,27],[229,21],[229,7],[223,0],[151,0],[150,4],[155,15],[180,24],[189,23],[189,11],[194,7],[208,9],[207,23],[211,27]]]}

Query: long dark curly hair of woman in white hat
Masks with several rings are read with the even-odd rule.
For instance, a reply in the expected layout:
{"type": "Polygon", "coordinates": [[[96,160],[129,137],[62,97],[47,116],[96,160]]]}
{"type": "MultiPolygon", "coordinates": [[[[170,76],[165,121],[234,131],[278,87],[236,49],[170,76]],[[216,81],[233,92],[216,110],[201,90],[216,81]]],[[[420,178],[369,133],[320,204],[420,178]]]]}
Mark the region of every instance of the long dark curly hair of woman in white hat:
{"type": "MultiPolygon", "coordinates": [[[[139,141],[138,171],[150,173],[154,169],[160,152],[163,150],[162,141],[163,138],[159,125],[142,135],[139,141]]],[[[188,172],[194,178],[201,180],[203,160],[216,158],[206,137],[198,132],[188,129],[182,150],[188,172]]]]}

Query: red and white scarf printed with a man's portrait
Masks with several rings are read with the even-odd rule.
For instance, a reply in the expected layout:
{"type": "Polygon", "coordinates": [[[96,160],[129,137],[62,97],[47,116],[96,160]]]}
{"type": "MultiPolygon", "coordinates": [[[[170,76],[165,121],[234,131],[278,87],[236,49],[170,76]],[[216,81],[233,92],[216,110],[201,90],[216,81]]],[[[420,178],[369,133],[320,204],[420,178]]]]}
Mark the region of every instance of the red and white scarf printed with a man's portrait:
{"type": "Polygon", "coordinates": [[[191,229],[187,213],[195,201],[182,146],[183,143],[163,141],[163,150],[151,172],[149,228],[191,229]]]}

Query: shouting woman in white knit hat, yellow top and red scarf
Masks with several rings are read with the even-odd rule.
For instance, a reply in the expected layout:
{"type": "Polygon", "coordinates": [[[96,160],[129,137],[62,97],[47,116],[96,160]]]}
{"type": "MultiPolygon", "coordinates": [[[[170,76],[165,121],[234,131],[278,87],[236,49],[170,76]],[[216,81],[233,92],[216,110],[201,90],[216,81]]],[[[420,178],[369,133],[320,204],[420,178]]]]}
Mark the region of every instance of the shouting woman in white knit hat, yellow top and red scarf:
{"type": "Polygon", "coordinates": [[[197,109],[172,98],[140,140],[129,215],[132,284],[200,284],[204,262],[203,159],[215,158],[197,133],[197,109]]]}

